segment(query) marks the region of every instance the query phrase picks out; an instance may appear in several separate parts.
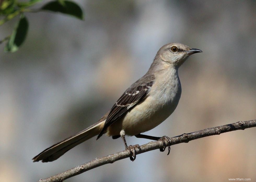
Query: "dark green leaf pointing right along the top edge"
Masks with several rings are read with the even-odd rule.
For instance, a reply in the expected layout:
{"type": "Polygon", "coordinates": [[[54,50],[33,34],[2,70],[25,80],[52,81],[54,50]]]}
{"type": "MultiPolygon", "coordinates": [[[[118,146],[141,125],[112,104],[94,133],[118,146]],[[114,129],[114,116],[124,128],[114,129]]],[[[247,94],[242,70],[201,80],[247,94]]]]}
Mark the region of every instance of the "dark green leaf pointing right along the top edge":
{"type": "Polygon", "coordinates": [[[76,3],[72,1],[51,1],[45,4],[42,10],[49,10],[54,12],[61,12],[64,14],[75,16],[76,18],[83,20],[83,11],[76,3]]]}

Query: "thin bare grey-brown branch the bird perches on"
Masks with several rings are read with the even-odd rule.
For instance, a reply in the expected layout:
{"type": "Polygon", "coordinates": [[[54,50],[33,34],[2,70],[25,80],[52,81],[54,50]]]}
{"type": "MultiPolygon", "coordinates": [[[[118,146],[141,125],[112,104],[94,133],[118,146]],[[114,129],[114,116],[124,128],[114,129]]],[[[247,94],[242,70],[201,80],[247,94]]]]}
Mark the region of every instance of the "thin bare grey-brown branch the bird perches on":
{"type": "MultiPolygon", "coordinates": [[[[213,128],[207,128],[207,129],[203,129],[203,130],[196,131],[196,132],[189,133],[189,134],[184,133],[183,135],[180,135],[177,137],[172,137],[171,145],[176,145],[179,143],[187,143],[191,140],[199,139],[199,138],[206,137],[206,136],[219,135],[221,133],[226,133],[229,131],[244,130],[246,128],[252,128],[252,127],[256,127],[256,119],[251,120],[251,121],[239,121],[239,122],[232,123],[232,124],[222,125],[222,126],[213,127],[213,128]]],[[[165,143],[167,144],[168,141],[165,141],[165,143]]],[[[149,142],[145,145],[140,146],[141,150],[136,148],[136,154],[141,154],[144,152],[148,152],[148,151],[155,150],[155,149],[160,149],[163,147],[164,147],[164,144],[162,141],[149,142]]],[[[129,152],[129,150],[124,150],[124,151],[121,151],[121,152],[118,152],[115,154],[111,154],[111,155],[108,155],[108,156],[105,156],[102,158],[96,158],[90,162],[87,162],[80,166],[74,167],[65,172],[56,174],[52,177],[49,177],[46,179],[40,179],[40,180],[38,180],[38,182],[64,181],[65,179],[68,179],[68,178],[71,178],[72,176],[89,171],[93,168],[96,168],[96,167],[99,167],[99,166],[102,166],[105,164],[113,163],[115,161],[128,158],[130,156],[131,156],[131,153],[129,152]]]]}

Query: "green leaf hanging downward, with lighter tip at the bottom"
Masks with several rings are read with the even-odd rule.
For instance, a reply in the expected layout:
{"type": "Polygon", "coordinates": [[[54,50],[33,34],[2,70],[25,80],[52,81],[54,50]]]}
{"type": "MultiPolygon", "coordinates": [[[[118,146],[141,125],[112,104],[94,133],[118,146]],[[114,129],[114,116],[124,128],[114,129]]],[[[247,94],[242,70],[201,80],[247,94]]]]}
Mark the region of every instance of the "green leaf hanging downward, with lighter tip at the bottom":
{"type": "Polygon", "coordinates": [[[21,44],[24,42],[28,31],[28,21],[24,15],[20,16],[16,28],[13,30],[9,41],[4,47],[5,52],[15,52],[19,49],[21,44]]]}

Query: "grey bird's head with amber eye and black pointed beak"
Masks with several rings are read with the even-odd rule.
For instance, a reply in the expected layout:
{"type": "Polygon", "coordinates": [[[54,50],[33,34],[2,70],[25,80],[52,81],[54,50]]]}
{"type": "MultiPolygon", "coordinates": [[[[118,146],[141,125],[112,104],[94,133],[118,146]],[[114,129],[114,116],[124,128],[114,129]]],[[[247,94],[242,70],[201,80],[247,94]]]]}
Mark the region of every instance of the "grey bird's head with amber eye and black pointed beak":
{"type": "Polygon", "coordinates": [[[172,64],[175,67],[179,67],[188,58],[189,55],[202,52],[199,49],[190,48],[181,43],[168,43],[162,46],[157,55],[166,63],[172,64]]]}

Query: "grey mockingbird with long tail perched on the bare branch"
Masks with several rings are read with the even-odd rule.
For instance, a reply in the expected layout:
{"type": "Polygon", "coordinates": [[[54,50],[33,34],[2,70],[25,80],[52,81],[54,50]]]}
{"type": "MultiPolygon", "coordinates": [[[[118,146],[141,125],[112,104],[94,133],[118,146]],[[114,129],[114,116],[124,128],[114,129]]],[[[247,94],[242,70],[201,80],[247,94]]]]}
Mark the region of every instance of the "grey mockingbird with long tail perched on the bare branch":
{"type": "MultiPolygon", "coordinates": [[[[166,120],[176,109],[181,98],[181,82],[178,68],[194,53],[202,52],[200,49],[190,48],[181,43],[168,43],[157,52],[153,63],[147,73],[133,83],[113,107],[95,124],[46,148],[36,155],[33,162],[51,162],[58,159],[68,150],[97,135],[98,140],[103,134],[113,139],[121,137],[125,149],[128,149],[132,161],[136,158],[135,147],[127,146],[126,136],[135,136],[150,140],[165,140],[167,136],[155,137],[144,135],[166,120]]],[[[160,149],[163,152],[167,144],[160,149]]],[[[168,146],[170,153],[170,145],[168,146]]]]}

